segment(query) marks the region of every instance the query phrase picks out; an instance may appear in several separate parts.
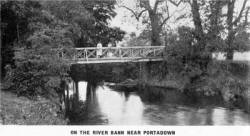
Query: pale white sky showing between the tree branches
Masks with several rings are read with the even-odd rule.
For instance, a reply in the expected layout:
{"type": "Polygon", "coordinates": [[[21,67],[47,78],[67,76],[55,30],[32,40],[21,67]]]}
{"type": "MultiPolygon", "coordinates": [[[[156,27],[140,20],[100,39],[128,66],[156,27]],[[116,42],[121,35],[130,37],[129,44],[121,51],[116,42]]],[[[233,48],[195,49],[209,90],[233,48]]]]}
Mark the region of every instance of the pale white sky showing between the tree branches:
{"type": "MultiPolygon", "coordinates": [[[[134,0],[122,0],[124,2],[124,5],[130,8],[135,7],[135,1],[134,0]]],[[[150,5],[153,5],[155,0],[150,0],[150,5]]],[[[237,0],[236,2],[236,11],[242,7],[243,0],[237,0]]],[[[247,6],[250,6],[250,2],[248,1],[247,6]]],[[[121,8],[116,6],[115,11],[117,12],[117,16],[111,20],[110,25],[120,27],[122,30],[126,31],[127,33],[135,32],[137,35],[142,31],[142,29],[145,27],[142,25],[141,21],[138,22],[134,17],[131,17],[132,13],[128,11],[125,8],[121,8]]],[[[178,8],[175,7],[172,4],[169,4],[169,11],[174,13],[173,18],[167,22],[171,29],[175,29],[178,26],[185,25],[185,26],[192,26],[192,20],[191,19],[185,19],[181,20],[179,22],[175,22],[175,18],[180,16],[183,12],[190,12],[189,5],[187,4],[181,4],[178,8]],[[186,6],[185,10],[181,10],[186,6]],[[181,11],[180,11],[181,10],[181,11]]]]}

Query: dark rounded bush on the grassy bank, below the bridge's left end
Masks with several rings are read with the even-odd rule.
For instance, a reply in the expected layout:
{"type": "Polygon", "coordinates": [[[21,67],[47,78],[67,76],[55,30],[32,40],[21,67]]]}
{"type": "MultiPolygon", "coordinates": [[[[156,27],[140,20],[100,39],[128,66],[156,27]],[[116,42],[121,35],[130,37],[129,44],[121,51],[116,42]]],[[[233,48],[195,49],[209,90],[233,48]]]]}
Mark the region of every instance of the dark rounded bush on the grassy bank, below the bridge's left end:
{"type": "MultiPolygon", "coordinates": [[[[66,68],[62,69],[66,70],[66,68]]],[[[22,62],[15,69],[8,69],[6,81],[18,96],[29,98],[36,98],[38,95],[55,96],[56,90],[61,89],[61,81],[65,80],[67,76],[51,74],[50,71],[47,63],[22,62]]],[[[62,73],[62,71],[58,71],[58,73],[62,73]]]]}

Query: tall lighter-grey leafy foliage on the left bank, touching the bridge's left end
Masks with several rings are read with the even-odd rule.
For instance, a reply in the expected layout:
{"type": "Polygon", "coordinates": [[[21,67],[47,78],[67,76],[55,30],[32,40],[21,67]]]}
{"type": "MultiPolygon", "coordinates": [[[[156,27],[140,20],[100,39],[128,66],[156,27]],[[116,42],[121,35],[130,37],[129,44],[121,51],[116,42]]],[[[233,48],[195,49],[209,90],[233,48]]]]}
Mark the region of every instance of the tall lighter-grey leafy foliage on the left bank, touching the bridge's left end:
{"type": "Polygon", "coordinates": [[[33,33],[15,52],[16,68],[9,68],[6,76],[15,93],[30,98],[56,95],[61,81],[67,79],[69,63],[59,58],[55,49],[69,53],[73,47],[69,37],[71,32],[65,23],[58,23],[53,15],[43,11],[37,16],[47,21],[34,19],[30,22],[29,28],[33,33]]]}

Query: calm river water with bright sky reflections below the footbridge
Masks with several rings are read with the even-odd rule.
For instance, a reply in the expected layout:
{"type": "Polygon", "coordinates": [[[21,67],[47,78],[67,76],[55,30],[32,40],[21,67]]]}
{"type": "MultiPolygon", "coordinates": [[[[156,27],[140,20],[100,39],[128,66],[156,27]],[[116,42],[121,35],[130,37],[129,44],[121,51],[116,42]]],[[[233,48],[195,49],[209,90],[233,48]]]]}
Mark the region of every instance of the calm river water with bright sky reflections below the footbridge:
{"type": "Polygon", "coordinates": [[[176,90],[148,88],[138,93],[72,82],[68,96],[73,98],[68,104],[70,124],[250,125],[244,107],[230,106],[220,98],[191,100],[176,90]],[[154,91],[163,91],[164,99],[154,97],[154,91]]]}

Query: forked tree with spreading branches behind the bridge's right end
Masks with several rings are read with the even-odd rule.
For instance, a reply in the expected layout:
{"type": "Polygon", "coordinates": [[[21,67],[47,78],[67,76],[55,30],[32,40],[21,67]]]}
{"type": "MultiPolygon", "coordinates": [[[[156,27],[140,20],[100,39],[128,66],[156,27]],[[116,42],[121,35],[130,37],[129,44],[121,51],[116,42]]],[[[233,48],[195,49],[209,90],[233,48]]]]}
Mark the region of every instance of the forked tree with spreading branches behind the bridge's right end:
{"type": "Polygon", "coordinates": [[[136,9],[132,9],[123,4],[122,1],[120,1],[120,7],[123,7],[130,11],[138,21],[143,16],[143,18],[145,18],[144,13],[147,13],[149,20],[148,23],[151,29],[151,45],[159,46],[161,45],[160,34],[162,32],[162,27],[172,16],[169,13],[168,2],[174,4],[175,6],[179,6],[179,4],[181,3],[176,3],[173,0],[155,0],[155,3],[153,4],[153,6],[151,6],[149,0],[137,0],[136,9]]]}

